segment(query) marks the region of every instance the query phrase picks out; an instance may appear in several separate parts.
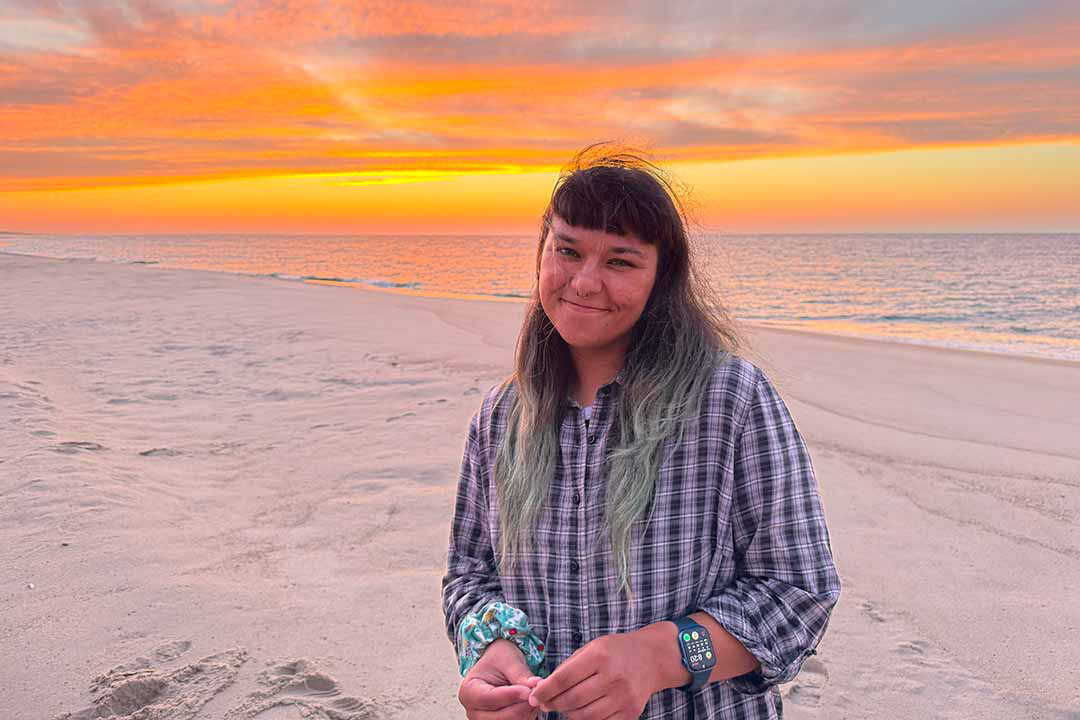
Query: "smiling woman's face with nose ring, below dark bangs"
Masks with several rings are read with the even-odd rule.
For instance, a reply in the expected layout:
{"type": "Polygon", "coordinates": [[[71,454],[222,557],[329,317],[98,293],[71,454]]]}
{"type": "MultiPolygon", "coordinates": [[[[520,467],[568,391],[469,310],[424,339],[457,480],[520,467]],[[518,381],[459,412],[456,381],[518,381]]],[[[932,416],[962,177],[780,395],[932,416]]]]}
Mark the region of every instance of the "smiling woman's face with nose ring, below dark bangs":
{"type": "Polygon", "coordinates": [[[540,304],[570,348],[625,352],[656,279],[654,245],[552,217],[540,254],[540,304]]]}

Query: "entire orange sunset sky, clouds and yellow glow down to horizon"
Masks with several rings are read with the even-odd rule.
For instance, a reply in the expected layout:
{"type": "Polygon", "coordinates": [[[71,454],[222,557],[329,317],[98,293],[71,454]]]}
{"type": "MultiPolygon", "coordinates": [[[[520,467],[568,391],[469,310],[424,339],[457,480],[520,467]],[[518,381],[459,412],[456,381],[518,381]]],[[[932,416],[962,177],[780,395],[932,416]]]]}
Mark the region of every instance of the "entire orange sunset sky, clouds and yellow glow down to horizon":
{"type": "Polygon", "coordinates": [[[532,232],[615,139],[717,230],[1077,231],[1078,38],[1075,0],[0,0],[0,230],[532,232]]]}

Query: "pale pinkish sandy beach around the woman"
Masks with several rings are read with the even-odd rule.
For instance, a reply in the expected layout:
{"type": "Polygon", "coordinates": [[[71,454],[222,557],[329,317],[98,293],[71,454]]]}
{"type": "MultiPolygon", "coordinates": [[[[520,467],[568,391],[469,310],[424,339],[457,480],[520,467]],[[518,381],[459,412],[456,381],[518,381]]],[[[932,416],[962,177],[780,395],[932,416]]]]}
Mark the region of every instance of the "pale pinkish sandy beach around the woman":
{"type": "MultiPolygon", "coordinates": [[[[460,718],[522,305],[0,255],[0,718],[460,718]]],[[[789,718],[1080,718],[1080,365],[748,328],[845,582],[789,718]]]]}

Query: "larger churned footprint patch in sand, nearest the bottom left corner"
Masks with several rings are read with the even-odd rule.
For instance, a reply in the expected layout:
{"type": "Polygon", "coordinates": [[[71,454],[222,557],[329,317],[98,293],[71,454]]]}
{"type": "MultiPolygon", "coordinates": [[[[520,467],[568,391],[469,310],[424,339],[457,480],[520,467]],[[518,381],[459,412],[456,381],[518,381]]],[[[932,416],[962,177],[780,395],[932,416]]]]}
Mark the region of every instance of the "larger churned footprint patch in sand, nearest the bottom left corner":
{"type": "MultiPolygon", "coordinates": [[[[159,662],[174,660],[191,643],[179,641],[154,651],[159,662]]],[[[206,703],[235,681],[247,660],[244,650],[226,650],[175,670],[154,668],[138,657],[96,678],[90,687],[90,707],[66,712],[56,720],[191,720],[206,703]]]]}

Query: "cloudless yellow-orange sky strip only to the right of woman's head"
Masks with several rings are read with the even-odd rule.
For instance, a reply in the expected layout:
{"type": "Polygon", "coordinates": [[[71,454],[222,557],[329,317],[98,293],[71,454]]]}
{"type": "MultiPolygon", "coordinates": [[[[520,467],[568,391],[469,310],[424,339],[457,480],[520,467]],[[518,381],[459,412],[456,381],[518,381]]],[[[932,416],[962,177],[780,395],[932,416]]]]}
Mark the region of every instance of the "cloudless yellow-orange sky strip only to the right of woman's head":
{"type": "Polygon", "coordinates": [[[1080,229],[1076,142],[767,158],[673,169],[691,187],[701,220],[715,229],[1080,229]]]}

